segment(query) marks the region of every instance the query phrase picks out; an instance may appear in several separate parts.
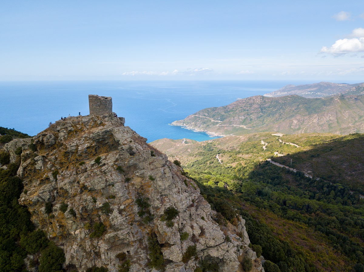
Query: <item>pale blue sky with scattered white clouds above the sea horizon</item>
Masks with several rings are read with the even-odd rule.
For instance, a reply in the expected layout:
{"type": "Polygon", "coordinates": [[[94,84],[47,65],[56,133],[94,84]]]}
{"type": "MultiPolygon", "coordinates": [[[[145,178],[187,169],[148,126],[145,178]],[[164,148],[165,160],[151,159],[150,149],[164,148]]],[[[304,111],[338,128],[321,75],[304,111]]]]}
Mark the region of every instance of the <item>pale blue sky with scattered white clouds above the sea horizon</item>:
{"type": "Polygon", "coordinates": [[[364,81],[363,1],[1,1],[0,80],[364,81]]]}

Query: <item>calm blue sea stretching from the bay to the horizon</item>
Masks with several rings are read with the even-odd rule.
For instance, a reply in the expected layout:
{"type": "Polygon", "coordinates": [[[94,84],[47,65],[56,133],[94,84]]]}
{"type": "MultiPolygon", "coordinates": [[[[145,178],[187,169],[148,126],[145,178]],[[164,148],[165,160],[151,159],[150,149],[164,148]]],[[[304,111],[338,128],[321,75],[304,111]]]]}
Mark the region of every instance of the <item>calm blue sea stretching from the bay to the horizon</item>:
{"type": "MultiPolygon", "coordinates": [[[[170,123],[206,107],[262,95],[304,81],[3,81],[0,126],[35,135],[61,117],[89,114],[88,94],[111,96],[113,111],[148,142],[212,139],[170,123]]],[[[312,82],[311,82],[312,83],[312,82]]]]}

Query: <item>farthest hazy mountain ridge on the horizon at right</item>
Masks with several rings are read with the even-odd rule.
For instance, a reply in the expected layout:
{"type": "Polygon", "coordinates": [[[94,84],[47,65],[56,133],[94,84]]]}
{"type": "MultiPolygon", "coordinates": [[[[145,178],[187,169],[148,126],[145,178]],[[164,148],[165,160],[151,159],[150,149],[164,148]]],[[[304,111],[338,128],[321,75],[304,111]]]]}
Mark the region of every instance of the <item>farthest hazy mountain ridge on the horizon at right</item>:
{"type": "Polygon", "coordinates": [[[278,97],[297,94],[306,98],[327,97],[337,94],[364,94],[364,83],[346,84],[346,83],[331,83],[319,82],[306,85],[286,85],[283,88],[272,93],[266,93],[264,96],[278,97]]]}

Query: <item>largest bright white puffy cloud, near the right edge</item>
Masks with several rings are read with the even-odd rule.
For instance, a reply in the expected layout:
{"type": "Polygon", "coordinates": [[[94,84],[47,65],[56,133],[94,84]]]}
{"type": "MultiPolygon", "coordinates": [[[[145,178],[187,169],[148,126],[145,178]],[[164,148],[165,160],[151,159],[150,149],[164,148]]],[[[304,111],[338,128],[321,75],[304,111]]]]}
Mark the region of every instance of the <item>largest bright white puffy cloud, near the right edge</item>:
{"type": "Polygon", "coordinates": [[[333,55],[342,55],[346,53],[364,52],[364,38],[340,39],[331,45],[323,46],[320,53],[329,53],[333,55]]]}

